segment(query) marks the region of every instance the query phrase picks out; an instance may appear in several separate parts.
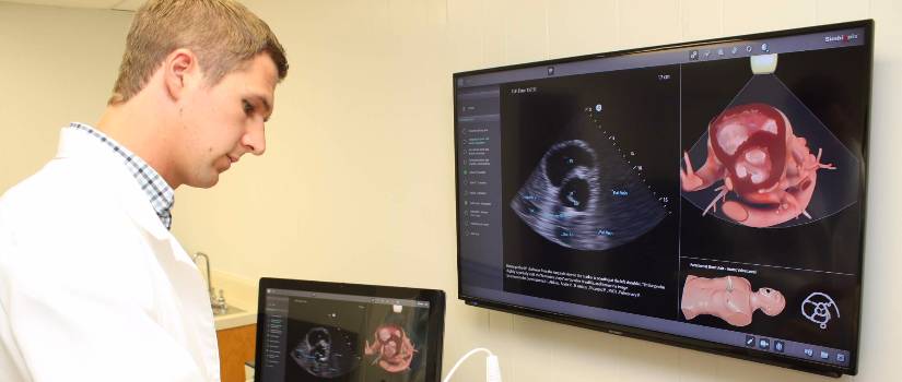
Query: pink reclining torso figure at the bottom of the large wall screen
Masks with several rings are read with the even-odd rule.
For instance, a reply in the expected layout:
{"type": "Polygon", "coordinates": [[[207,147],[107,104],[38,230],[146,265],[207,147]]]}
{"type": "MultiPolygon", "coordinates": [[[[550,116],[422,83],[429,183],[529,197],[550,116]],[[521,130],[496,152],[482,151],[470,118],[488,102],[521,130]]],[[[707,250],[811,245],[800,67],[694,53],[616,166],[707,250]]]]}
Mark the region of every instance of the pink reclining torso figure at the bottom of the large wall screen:
{"type": "Polygon", "coordinates": [[[786,308],[783,294],[772,288],[752,293],[749,280],[737,276],[705,278],[689,275],[680,302],[687,320],[699,314],[712,314],[734,326],[750,324],[757,309],[773,317],[780,314],[783,308],[786,308]]]}

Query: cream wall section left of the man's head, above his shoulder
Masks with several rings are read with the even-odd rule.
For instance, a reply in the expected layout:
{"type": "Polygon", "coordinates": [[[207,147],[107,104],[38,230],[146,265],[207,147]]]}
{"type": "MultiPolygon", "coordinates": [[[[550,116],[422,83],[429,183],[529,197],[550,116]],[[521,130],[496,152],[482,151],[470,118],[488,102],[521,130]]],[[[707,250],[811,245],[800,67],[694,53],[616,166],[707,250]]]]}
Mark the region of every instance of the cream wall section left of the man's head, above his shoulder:
{"type": "Polygon", "coordinates": [[[0,192],[56,154],[59,129],[95,122],[131,13],[0,2],[0,192]]]}

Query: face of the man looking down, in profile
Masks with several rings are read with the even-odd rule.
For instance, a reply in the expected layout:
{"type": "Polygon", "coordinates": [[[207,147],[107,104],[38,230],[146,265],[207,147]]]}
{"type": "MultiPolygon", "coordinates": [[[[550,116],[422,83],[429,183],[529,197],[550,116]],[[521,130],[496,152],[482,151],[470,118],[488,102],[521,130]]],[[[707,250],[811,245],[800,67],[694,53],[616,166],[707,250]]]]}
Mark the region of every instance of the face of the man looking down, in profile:
{"type": "Polygon", "coordinates": [[[242,155],[266,151],[263,123],[272,114],[278,75],[260,53],[218,84],[196,86],[180,107],[174,147],[179,183],[209,188],[242,155]]]}

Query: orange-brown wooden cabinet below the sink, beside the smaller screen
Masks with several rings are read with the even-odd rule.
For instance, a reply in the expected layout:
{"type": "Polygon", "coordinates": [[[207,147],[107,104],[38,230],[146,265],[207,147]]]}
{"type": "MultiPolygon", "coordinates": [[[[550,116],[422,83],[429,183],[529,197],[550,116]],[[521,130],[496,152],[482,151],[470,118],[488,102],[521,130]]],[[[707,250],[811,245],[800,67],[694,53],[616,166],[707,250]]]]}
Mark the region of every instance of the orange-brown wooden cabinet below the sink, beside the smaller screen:
{"type": "Polygon", "coordinates": [[[245,382],[244,362],[254,359],[256,336],[256,324],[216,331],[222,382],[245,382]]]}

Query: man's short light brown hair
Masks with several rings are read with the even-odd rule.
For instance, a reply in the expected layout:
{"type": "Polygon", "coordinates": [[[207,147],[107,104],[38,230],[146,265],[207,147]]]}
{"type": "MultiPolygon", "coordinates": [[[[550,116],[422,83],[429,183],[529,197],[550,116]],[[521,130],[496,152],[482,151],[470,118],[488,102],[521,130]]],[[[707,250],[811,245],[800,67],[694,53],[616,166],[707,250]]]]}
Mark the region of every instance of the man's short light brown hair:
{"type": "Polygon", "coordinates": [[[284,48],[269,25],[244,5],[231,0],[149,0],[134,14],[109,105],[138,94],[178,48],[197,55],[211,86],[262,52],[276,63],[279,81],[288,74],[284,48]]]}

